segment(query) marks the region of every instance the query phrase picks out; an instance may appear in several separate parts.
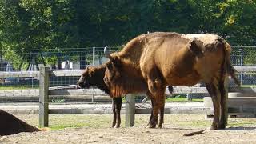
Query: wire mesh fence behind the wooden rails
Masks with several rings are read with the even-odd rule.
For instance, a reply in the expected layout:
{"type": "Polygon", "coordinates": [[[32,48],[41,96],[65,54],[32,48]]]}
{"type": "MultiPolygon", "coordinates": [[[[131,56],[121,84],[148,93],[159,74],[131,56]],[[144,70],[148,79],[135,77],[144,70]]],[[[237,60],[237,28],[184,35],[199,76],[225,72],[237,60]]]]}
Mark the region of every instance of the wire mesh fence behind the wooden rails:
{"type": "MultiPolygon", "coordinates": [[[[234,66],[256,65],[256,46],[232,46],[231,62],[234,66]]],[[[103,56],[104,47],[65,48],[61,50],[16,50],[1,51],[0,75],[12,71],[38,71],[40,66],[48,66],[50,70],[83,70],[86,66],[98,66],[106,62],[103,56]]],[[[111,50],[117,51],[117,47],[111,50]]],[[[244,72],[238,77],[242,86],[256,86],[256,73],[244,72]]],[[[79,76],[52,76],[50,87],[74,85],[79,76]]],[[[0,102],[38,102],[38,77],[34,75],[3,77],[0,76],[0,102]]],[[[196,85],[203,87],[199,83],[196,85]]],[[[234,82],[230,82],[234,86],[234,82]]],[[[98,89],[90,89],[88,97],[74,95],[50,98],[50,102],[110,102],[110,98],[104,94],[98,94],[98,89]]],[[[176,96],[190,95],[194,98],[203,98],[207,94],[176,94],[176,96]]],[[[136,101],[142,101],[145,94],[136,97],[136,101]]]]}

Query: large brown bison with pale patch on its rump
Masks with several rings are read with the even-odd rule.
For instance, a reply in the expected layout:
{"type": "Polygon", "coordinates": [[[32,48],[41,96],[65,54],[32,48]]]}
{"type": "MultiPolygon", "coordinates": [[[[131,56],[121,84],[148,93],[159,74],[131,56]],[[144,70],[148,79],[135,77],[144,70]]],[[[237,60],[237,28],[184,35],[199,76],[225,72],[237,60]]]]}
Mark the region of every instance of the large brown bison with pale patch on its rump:
{"type": "MultiPolygon", "coordinates": [[[[147,91],[153,101],[150,127],[156,126],[158,110],[163,113],[166,86],[192,86],[199,81],[205,82],[214,103],[210,130],[223,129],[227,123],[226,75],[239,85],[230,64],[230,51],[230,45],[214,34],[142,34],[118,53],[110,54],[105,50],[110,62],[104,81],[110,87],[111,95],[147,91]]],[[[163,116],[158,126],[162,123],[163,116]]]]}

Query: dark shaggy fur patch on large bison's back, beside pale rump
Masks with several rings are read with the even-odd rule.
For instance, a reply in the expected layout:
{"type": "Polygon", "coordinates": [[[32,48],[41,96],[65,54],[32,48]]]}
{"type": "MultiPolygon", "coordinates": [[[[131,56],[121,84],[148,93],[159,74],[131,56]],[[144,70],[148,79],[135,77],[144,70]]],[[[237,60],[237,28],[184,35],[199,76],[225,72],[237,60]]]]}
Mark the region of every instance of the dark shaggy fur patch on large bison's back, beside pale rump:
{"type": "Polygon", "coordinates": [[[190,49],[190,51],[197,56],[198,58],[202,58],[203,56],[203,42],[201,42],[200,40],[198,40],[197,38],[194,38],[192,40],[190,40],[189,42],[189,46],[188,48],[190,49]]]}

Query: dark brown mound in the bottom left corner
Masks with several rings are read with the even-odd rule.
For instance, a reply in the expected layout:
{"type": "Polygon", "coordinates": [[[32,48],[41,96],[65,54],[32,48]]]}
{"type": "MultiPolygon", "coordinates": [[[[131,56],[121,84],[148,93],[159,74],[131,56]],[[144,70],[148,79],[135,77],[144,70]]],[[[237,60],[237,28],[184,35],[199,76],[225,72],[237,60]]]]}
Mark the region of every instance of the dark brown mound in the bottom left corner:
{"type": "Polygon", "coordinates": [[[14,115],[0,110],[0,135],[18,134],[20,132],[40,131],[37,127],[16,118],[14,115]]]}

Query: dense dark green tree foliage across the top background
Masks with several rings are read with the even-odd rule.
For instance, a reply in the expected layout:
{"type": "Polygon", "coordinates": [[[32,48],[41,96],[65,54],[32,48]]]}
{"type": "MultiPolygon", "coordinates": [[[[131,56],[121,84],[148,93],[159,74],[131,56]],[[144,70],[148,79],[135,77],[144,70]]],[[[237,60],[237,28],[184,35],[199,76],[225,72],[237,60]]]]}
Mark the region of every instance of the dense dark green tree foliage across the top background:
{"type": "MultiPolygon", "coordinates": [[[[118,46],[147,31],[213,33],[232,45],[255,45],[254,0],[2,0],[6,58],[22,50],[118,46]]],[[[16,55],[15,55],[16,54],[16,55]]]]}

